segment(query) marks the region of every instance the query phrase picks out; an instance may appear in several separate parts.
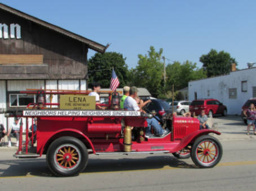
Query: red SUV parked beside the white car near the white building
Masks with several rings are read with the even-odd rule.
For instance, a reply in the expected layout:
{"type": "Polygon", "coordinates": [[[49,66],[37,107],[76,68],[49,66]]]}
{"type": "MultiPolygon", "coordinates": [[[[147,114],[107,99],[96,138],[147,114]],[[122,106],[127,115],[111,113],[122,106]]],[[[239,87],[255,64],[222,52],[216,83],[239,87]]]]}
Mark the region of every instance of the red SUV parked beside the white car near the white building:
{"type": "Polygon", "coordinates": [[[227,107],[217,99],[196,99],[189,106],[189,111],[195,112],[196,115],[200,115],[202,110],[205,110],[205,114],[210,117],[218,114],[227,115],[227,107]]]}

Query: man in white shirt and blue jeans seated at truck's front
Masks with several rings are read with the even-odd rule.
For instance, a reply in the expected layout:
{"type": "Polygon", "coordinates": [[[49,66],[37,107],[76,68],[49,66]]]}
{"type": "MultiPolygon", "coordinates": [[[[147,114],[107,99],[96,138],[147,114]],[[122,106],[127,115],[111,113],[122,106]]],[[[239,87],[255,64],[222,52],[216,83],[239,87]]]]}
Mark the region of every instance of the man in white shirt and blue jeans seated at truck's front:
{"type": "MultiPolygon", "coordinates": [[[[131,87],[130,95],[125,99],[125,103],[123,104],[123,107],[129,111],[141,111],[145,113],[144,110],[139,108],[137,102],[135,101],[135,98],[137,97],[137,93],[138,93],[138,89],[134,86],[131,87]]],[[[156,136],[164,137],[167,133],[169,133],[167,130],[162,129],[161,125],[158,124],[158,121],[155,118],[152,118],[152,119],[147,118],[147,122],[148,122],[148,126],[149,127],[152,126],[153,129],[155,130],[156,136]]],[[[150,128],[147,128],[145,137],[149,138],[152,136],[153,135],[150,133],[150,128]]]]}

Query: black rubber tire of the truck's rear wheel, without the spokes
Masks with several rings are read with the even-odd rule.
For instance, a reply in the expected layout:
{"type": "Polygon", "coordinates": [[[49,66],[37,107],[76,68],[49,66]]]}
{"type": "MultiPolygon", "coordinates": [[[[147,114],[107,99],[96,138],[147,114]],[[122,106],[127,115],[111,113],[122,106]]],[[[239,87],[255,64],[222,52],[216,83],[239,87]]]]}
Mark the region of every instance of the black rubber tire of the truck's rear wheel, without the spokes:
{"type": "Polygon", "coordinates": [[[88,152],[85,144],[81,140],[74,137],[60,137],[50,144],[46,154],[46,161],[51,172],[56,176],[76,176],[83,171],[88,162],[88,152]],[[56,160],[58,148],[66,147],[73,148],[78,154],[77,165],[72,169],[64,169],[56,160]]]}

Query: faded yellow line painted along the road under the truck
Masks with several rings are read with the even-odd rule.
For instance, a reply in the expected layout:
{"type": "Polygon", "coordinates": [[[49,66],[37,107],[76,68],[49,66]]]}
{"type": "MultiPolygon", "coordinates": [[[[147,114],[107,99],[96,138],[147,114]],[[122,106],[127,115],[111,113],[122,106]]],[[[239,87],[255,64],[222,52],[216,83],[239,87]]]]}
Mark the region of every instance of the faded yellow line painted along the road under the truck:
{"type": "MultiPolygon", "coordinates": [[[[256,165],[256,161],[241,161],[241,162],[222,162],[217,166],[242,166],[242,165],[256,165]]],[[[190,165],[189,165],[190,166],[190,165]]],[[[187,166],[187,168],[190,168],[187,166]]],[[[120,170],[120,171],[105,171],[105,172],[82,172],[80,174],[103,174],[103,173],[113,173],[113,172],[132,172],[132,171],[149,171],[149,170],[171,170],[171,169],[180,169],[184,168],[184,166],[180,165],[177,167],[164,166],[161,169],[135,169],[135,170],[120,170]]],[[[51,176],[51,175],[49,175],[51,176]]],[[[27,175],[23,176],[1,176],[0,179],[10,179],[10,178],[32,178],[36,177],[36,175],[31,175],[30,172],[27,175]]]]}

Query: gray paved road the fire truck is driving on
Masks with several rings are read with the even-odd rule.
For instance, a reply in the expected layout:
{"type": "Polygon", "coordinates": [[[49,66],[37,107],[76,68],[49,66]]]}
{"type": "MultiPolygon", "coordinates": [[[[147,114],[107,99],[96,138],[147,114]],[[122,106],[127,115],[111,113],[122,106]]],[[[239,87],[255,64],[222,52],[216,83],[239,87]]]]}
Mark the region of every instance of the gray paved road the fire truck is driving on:
{"type": "Polygon", "coordinates": [[[198,169],[171,154],[90,156],[79,176],[55,178],[44,158],[15,159],[1,149],[2,190],[255,190],[256,140],[222,141],[223,158],[198,169]]]}

